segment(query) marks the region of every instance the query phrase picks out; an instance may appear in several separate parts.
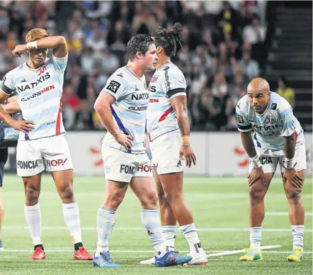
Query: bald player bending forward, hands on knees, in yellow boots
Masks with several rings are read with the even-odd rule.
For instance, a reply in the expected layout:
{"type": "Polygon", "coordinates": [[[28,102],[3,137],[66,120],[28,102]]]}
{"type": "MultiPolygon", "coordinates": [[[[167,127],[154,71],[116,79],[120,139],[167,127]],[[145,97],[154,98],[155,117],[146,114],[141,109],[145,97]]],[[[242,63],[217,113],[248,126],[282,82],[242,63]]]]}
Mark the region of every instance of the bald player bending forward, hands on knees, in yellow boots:
{"type": "Polygon", "coordinates": [[[250,248],[241,261],[261,261],[264,196],[279,163],[289,204],[292,252],[289,262],[301,262],[305,211],[301,191],[307,169],[305,135],[288,101],[273,91],[265,79],[252,79],[236,106],[242,145],[250,157],[249,222],[250,248]]]}

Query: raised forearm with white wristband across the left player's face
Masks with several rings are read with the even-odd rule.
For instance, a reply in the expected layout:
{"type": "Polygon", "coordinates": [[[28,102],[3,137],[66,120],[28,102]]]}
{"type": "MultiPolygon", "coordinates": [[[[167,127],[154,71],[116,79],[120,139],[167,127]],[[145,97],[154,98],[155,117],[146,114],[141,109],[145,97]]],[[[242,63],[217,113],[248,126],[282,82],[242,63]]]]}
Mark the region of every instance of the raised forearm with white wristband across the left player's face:
{"type": "Polygon", "coordinates": [[[21,57],[22,52],[36,49],[53,49],[53,55],[55,57],[65,57],[67,55],[67,40],[62,35],[48,36],[47,38],[40,38],[39,40],[16,45],[12,51],[16,57],[21,57]]]}

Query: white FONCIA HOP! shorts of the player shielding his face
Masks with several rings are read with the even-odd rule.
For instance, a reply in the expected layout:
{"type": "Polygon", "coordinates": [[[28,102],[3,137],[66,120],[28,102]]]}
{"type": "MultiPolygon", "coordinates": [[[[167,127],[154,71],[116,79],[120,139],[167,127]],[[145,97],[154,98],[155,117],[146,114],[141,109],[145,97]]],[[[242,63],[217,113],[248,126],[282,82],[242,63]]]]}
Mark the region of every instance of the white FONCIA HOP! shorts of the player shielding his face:
{"type": "Polygon", "coordinates": [[[18,140],[16,169],[18,176],[73,169],[67,139],[64,135],[55,135],[38,140],[18,140]]]}

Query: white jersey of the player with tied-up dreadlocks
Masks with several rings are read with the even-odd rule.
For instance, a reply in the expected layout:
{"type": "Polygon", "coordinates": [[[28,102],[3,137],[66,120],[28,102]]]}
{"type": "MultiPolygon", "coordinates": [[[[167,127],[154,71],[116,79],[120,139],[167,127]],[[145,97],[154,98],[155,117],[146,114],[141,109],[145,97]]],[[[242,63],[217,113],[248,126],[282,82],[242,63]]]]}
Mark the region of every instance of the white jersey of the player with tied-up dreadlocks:
{"type": "Polygon", "coordinates": [[[154,72],[149,83],[147,111],[147,133],[150,140],[178,129],[176,111],[169,100],[175,96],[186,96],[186,87],[183,72],[172,62],[154,72]]]}

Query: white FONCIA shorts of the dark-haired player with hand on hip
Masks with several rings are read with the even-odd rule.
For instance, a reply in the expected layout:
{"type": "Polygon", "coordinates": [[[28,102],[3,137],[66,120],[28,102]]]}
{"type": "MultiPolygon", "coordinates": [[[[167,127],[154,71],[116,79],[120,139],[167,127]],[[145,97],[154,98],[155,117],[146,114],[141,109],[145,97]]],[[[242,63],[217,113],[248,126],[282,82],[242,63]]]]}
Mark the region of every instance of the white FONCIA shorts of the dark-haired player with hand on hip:
{"type": "Polygon", "coordinates": [[[130,183],[134,176],[153,176],[147,153],[130,154],[102,144],[104,174],[110,181],[130,183]]]}

